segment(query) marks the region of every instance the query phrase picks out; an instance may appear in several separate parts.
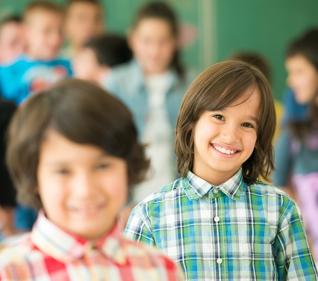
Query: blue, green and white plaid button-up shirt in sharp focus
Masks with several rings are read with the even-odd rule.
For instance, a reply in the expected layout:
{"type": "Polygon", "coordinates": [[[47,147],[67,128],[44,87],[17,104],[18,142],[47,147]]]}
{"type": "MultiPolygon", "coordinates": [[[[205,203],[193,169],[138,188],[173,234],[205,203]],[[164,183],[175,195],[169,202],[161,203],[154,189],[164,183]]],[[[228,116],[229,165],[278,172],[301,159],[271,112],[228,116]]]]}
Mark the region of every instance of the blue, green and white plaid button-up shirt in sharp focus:
{"type": "Polygon", "coordinates": [[[188,172],[140,202],[125,235],[162,249],[187,280],[318,280],[298,206],[241,170],[219,186],[188,172]]]}

